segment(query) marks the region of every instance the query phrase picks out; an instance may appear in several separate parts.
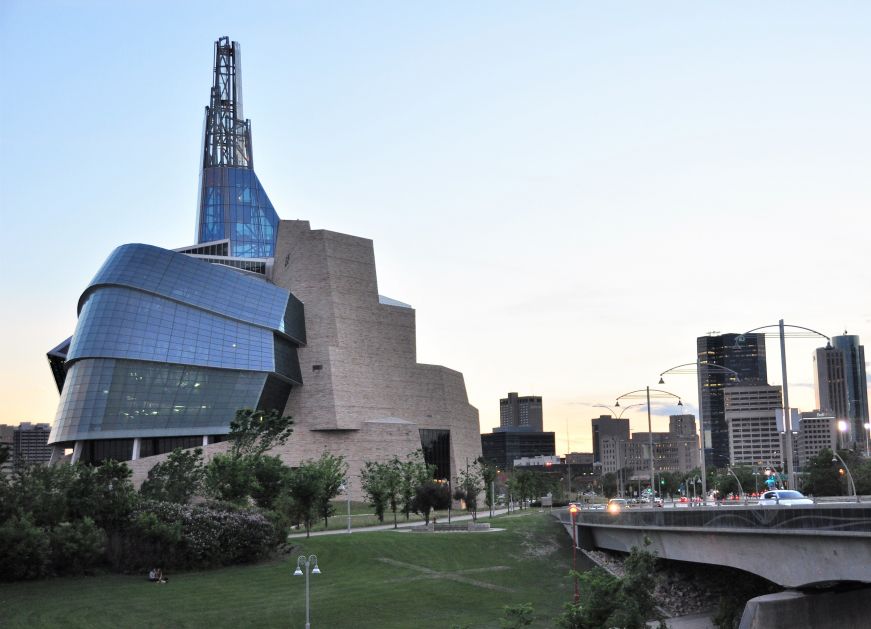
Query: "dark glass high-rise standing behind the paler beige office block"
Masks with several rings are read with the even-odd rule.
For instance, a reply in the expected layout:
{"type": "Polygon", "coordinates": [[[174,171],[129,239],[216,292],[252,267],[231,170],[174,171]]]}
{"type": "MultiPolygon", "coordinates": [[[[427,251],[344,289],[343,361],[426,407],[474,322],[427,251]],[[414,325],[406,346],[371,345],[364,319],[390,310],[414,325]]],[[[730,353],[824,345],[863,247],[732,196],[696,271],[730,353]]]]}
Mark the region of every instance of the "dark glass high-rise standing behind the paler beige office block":
{"type": "Polygon", "coordinates": [[[699,360],[699,413],[704,428],[705,465],[723,468],[729,465],[729,427],[726,424],[724,387],[737,384],[735,377],[719,365],[737,372],[744,385],[767,384],[765,335],[717,334],[700,336],[696,341],[699,360]]]}

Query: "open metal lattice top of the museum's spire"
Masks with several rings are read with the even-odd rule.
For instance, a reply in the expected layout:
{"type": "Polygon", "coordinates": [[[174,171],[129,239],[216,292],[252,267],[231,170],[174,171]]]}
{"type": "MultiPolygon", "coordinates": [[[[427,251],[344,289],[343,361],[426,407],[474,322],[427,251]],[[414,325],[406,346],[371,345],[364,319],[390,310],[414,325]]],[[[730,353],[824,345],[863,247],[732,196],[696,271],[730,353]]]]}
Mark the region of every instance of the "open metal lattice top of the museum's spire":
{"type": "Polygon", "coordinates": [[[253,168],[251,121],[242,114],[242,49],[221,37],[215,42],[212,93],[206,107],[203,167],[253,168]]]}

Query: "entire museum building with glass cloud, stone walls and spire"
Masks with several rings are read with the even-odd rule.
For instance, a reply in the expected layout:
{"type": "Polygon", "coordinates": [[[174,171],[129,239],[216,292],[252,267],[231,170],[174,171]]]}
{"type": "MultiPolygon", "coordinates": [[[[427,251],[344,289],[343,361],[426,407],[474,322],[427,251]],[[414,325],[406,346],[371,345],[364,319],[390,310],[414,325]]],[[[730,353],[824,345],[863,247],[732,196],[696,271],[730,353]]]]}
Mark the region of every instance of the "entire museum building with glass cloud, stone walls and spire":
{"type": "MultiPolygon", "coordinates": [[[[196,244],[115,249],[49,351],[53,459],[129,461],[222,443],[240,408],[294,417],[273,454],[365,461],[422,449],[441,478],[481,455],[462,374],[417,362],[415,312],[378,293],[371,240],[282,221],[253,168],[240,47],[215,42],[196,244]]],[[[359,485],[359,483],[357,483],[359,485]]]]}

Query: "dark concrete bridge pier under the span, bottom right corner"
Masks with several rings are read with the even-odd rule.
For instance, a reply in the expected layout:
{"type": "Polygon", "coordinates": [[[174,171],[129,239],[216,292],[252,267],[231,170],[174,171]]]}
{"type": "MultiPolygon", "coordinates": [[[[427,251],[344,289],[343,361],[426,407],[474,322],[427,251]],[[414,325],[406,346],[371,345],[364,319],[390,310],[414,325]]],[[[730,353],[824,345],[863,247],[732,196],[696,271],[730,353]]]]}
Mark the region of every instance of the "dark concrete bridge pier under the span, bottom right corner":
{"type": "Polygon", "coordinates": [[[841,592],[786,590],[747,601],[739,629],[865,629],[871,588],[841,592]]]}

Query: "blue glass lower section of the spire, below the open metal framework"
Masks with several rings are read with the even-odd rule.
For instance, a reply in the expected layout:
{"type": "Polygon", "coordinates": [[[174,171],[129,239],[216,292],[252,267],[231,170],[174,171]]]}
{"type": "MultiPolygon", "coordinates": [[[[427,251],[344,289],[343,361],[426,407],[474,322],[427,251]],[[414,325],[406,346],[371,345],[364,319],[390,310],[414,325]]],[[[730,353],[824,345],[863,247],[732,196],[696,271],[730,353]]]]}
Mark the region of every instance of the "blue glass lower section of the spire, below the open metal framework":
{"type": "Polygon", "coordinates": [[[275,255],[278,214],[253,169],[203,168],[197,242],[230,241],[230,256],[275,255]]]}

